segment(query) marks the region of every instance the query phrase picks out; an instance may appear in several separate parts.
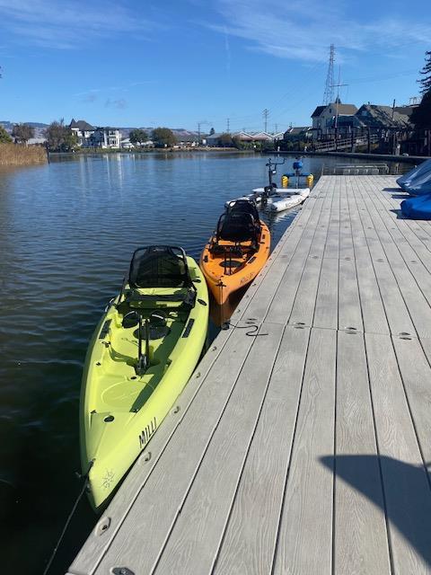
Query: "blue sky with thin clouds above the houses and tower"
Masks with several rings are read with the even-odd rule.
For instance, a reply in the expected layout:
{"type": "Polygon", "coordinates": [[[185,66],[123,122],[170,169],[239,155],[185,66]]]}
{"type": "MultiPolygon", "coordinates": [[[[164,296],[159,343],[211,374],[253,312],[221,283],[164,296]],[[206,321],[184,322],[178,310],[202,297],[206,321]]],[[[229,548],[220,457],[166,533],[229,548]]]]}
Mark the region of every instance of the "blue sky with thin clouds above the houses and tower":
{"type": "Polygon", "coordinates": [[[418,95],[429,0],[0,0],[0,120],[216,131],[307,125],[329,46],[342,102],[418,95]]]}

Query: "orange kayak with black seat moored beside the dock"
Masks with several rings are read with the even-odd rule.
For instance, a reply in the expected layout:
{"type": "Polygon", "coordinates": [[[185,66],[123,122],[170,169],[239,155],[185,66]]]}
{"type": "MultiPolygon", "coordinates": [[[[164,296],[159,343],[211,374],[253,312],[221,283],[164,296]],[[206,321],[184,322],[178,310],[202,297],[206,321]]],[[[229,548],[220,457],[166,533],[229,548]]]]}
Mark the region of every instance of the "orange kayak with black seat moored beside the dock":
{"type": "Polygon", "coordinates": [[[200,269],[217,304],[251,283],[268,260],[271,237],[249,200],[232,202],[200,257],[200,269]]]}

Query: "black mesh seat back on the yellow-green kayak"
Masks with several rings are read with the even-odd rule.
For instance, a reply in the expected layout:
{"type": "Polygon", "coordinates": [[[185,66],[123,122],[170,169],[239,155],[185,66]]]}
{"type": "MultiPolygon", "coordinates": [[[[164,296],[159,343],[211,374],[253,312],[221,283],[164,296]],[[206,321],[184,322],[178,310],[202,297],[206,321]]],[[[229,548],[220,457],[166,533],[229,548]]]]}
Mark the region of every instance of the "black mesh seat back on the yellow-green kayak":
{"type": "Polygon", "coordinates": [[[131,288],[185,288],[191,284],[186,254],[170,245],[138,248],[130,262],[131,288]]]}

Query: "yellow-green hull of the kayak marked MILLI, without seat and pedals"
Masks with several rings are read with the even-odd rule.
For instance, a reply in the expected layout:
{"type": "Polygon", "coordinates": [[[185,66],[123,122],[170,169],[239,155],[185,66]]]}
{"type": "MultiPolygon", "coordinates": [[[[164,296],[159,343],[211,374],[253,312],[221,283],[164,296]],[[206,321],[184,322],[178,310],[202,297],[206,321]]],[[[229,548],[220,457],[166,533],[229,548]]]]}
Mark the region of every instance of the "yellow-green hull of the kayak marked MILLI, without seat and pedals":
{"type": "MultiPolygon", "coordinates": [[[[204,349],[207,285],[196,261],[188,257],[188,265],[197,288],[194,307],[185,311],[178,301],[171,306],[165,300],[153,300],[151,309],[142,310],[149,314],[163,309],[168,314],[163,328],[167,333],[154,332],[149,341],[150,366],[144,374],[136,374],[138,328],[125,327],[120,305],[116,305],[119,297],[108,307],[92,336],[84,365],[80,435],[81,464],[83,473],[88,473],[94,509],[101,509],[109,500],[154,436],[204,349]]],[[[153,292],[155,289],[151,288],[153,292]]]]}

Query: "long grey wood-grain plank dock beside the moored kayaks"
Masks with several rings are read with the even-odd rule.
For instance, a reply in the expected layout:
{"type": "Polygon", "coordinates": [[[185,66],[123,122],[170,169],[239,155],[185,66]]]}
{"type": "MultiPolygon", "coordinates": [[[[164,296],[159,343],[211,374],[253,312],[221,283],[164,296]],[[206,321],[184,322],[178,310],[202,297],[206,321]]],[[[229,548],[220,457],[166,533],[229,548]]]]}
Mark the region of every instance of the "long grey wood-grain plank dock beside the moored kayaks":
{"type": "Polygon", "coordinates": [[[401,195],[321,178],[70,575],[431,573],[431,222],[401,195]]]}

